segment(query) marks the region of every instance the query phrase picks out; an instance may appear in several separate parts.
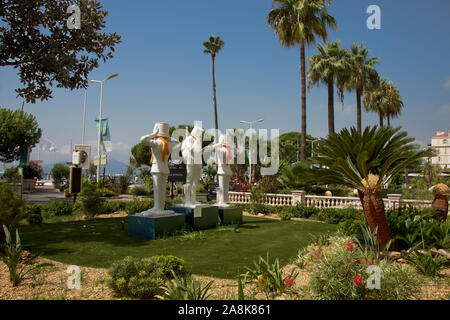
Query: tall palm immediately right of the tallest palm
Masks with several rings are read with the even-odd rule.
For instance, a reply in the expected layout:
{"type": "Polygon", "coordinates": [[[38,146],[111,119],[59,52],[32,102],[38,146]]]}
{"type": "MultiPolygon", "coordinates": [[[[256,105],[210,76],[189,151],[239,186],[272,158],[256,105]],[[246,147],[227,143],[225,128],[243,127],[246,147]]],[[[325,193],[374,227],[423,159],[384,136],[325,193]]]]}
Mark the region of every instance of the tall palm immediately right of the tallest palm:
{"type": "MultiPolygon", "coordinates": [[[[319,44],[317,46],[318,54],[309,58],[308,78],[309,84],[319,85],[323,83],[328,86],[328,134],[334,133],[334,84],[339,84],[339,78],[344,75],[348,66],[347,50],[341,49],[339,40],[335,42],[327,42],[325,46],[319,44]]],[[[342,88],[340,97],[343,96],[342,88]]]]}

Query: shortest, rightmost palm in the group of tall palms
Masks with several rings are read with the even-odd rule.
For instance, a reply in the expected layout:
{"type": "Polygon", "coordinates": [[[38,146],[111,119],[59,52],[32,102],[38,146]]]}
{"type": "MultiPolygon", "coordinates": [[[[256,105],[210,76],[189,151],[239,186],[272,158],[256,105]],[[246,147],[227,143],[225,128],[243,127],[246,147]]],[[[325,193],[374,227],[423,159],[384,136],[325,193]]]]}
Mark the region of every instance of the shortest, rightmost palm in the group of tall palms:
{"type": "Polygon", "coordinates": [[[378,78],[373,83],[366,86],[364,92],[364,110],[378,113],[380,126],[383,126],[383,119],[387,119],[388,126],[390,119],[401,114],[403,101],[398,88],[387,79],[378,78]]]}

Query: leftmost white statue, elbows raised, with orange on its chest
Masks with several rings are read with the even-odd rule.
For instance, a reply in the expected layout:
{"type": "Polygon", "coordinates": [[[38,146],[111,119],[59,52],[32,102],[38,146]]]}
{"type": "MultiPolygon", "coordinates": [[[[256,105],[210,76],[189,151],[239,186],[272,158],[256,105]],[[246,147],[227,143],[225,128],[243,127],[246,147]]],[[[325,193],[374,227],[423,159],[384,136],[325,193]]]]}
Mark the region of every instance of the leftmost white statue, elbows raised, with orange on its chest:
{"type": "Polygon", "coordinates": [[[156,123],[153,133],[141,138],[141,142],[152,149],[152,179],[153,179],[153,199],[152,209],[141,213],[142,216],[152,216],[161,214],[172,214],[173,211],[164,210],[166,200],[167,178],[169,176],[169,156],[174,147],[180,142],[169,136],[170,126],[168,123],[156,123]]]}

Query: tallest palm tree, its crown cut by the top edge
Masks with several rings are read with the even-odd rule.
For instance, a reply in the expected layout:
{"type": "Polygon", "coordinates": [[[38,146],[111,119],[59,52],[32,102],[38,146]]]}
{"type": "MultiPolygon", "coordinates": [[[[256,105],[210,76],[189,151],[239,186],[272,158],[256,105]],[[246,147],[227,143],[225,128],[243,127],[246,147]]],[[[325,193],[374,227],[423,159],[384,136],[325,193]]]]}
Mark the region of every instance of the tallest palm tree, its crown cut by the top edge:
{"type": "Polygon", "coordinates": [[[306,160],[306,57],[305,46],[315,43],[316,36],[326,41],[327,27],[336,28],[328,14],[325,0],[273,0],[267,23],[278,35],[283,47],[300,45],[301,78],[301,147],[300,160],[306,160]]]}

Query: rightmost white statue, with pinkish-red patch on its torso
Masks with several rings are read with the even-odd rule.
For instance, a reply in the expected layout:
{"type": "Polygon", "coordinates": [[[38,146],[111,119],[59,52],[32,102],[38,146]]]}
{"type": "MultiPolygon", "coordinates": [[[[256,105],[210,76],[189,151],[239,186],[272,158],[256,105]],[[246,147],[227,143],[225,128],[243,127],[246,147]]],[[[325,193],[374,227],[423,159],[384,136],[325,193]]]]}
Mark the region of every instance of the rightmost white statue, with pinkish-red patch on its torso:
{"type": "Polygon", "coordinates": [[[228,191],[230,189],[231,168],[230,163],[234,158],[232,144],[229,143],[227,135],[219,137],[219,143],[212,146],[217,157],[217,176],[219,177],[219,202],[220,207],[230,207],[228,204],[228,191]]]}

